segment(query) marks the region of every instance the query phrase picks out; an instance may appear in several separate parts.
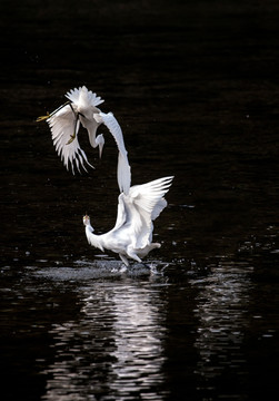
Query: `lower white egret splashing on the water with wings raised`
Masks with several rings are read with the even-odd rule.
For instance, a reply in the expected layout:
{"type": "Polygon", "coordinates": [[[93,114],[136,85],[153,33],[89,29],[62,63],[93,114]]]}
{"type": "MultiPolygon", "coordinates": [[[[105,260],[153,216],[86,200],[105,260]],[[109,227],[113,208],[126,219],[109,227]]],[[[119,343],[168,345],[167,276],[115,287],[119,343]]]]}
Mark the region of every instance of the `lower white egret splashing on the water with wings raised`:
{"type": "Polygon", "coordinates": [[[153,223],[167,206],[163,198],[169,190],[173,177],[163,177],[142,185],[130,187],[129,193],[118,197],[118,214],[114,227],[107,234],[93,234],[88,215],[83,216],[86,235],[90,245],[102,252],[116,252],[126,266],[128,257],[141,262],[159,243],[152,243],[153,223]]]}

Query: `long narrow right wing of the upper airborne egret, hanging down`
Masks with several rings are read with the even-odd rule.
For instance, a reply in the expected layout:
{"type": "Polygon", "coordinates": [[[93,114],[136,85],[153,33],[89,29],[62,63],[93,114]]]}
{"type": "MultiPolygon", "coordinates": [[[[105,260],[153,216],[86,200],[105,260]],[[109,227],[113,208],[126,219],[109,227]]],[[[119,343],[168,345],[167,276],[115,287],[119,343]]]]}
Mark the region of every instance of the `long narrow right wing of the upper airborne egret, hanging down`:
{"type": "Polygon", "coordinates": [[[122,130],[112,113],[106,114],[100,111],[94,114],[94,118],[98,123],[102,123],[108,127],[110,134],[117,143],[119,149],[117,168],[118,186],[120,193],[123,192],[124,194],[128,194],[131,185],[131,168],[128,162],[128,153],[124,147],[122,130]]]}

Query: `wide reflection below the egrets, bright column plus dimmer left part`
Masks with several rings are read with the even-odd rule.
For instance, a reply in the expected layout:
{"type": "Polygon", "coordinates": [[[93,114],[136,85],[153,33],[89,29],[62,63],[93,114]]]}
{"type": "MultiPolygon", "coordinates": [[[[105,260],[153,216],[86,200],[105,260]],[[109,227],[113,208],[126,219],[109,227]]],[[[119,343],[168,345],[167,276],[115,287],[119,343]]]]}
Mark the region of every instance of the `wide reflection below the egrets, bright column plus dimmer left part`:
{"type": "Polygon", "coordinates": [[[96,283],[77,320],[53,325],[56,360],[43,400],[162,400],[165,312],[159,292],[96,283]],[[159,310],[160,305],[160,310],[159,310]]]}

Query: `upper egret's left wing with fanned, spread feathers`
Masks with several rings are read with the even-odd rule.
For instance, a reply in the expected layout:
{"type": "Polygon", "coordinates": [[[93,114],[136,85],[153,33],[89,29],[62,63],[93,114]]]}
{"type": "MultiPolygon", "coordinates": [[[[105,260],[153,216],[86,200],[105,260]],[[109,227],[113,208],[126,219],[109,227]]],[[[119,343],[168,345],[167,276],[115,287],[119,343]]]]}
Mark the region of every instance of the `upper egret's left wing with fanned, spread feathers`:
{"type": "Polygon", "coordinates": [[[53,111],[47,121],[51,129],[56,150],[67,169],[69,169],[69,165],[71,165],[72,174],[74,174],[74,167],[77,167],[79,172],[80,167],[87,172],[84,163],[93,167],[88,162],[87,155],[79,145],[78,131],[80,121],[77,119],[70,105],[66,105],[63,108],[58,109],[58,111],[53,111]],[[71,140],[73,136],[74,139],[71,140]]]}

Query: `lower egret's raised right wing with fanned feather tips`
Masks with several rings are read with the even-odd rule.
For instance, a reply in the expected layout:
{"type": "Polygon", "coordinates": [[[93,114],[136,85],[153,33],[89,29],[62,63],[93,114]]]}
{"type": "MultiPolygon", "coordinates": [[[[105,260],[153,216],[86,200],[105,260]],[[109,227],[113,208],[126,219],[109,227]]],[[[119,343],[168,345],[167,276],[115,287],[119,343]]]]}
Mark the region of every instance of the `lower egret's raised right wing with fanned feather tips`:
{"type": "Polygon", "coordinates": [[[163,177],[147,184],[132,186],[124,197],[126,209],[133,227],[136,248],[143,248],[152,238],[152,221],[167,206],[163,198],[169,190],[173,177],[163,177]]]}

